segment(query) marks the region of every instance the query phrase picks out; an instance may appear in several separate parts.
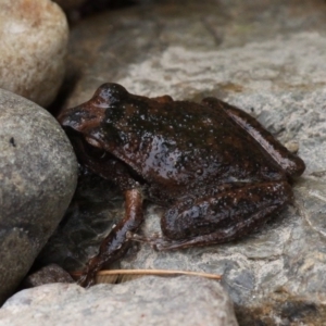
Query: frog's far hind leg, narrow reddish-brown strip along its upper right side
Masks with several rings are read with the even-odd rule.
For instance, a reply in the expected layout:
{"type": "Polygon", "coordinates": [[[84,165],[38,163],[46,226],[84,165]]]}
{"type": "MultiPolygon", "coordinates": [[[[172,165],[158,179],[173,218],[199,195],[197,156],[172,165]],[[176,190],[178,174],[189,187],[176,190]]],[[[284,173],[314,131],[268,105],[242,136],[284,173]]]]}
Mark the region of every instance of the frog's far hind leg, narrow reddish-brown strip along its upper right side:
{"type": "Polygon", "coordinates": [[[212,109],[225,111],[235,123],[244,129],[260,143],[261,147],[264,148],[266,152],[272,155],[274,161],[286,172],[288,176],[296,177],[304,172],[304,162],[277,141],[274,136],[250,114],[215,98],[206,98],[203,99],[202,102],[212,109]]]}

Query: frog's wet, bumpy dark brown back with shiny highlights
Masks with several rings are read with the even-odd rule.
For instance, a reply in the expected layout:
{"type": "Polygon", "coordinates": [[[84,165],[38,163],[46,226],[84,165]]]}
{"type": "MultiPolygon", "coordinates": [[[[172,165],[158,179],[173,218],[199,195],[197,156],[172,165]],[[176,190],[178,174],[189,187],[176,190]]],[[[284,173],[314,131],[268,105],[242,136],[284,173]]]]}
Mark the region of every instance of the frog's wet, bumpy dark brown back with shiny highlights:
{"type": "Polygon", "coordinates": [[[106,150],[149,184],[177,189],[280,178],[279,168],[227,114],[187,101],[130,96],[106,111],[106,150]]]}

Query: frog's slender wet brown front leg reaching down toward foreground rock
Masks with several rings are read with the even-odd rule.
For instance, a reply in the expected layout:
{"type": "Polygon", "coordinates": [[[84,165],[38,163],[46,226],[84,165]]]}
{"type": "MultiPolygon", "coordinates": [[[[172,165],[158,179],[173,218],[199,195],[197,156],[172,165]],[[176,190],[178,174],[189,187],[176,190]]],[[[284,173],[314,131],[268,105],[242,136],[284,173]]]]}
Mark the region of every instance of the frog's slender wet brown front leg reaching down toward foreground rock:
{"type": "Polygon", "coordinates": [[[142,195],[139,189],[125,191],[125,216],[110,231],[109,236],[102,241],[98,255],[92,258],[78,284],[84,287],[89,287],[95,283],[95,277],[98,271],[105,264],[113,263],[124,255],[129,241],[126,234],[136,231],[143,220],[142,214],[142,195]]]}

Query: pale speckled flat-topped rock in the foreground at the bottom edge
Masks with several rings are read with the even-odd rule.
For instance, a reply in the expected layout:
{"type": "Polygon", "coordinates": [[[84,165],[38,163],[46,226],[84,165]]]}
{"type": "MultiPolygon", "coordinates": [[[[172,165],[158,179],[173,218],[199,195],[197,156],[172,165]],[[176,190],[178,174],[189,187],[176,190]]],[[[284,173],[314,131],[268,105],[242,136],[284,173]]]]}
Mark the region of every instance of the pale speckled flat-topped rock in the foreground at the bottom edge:
{"type": "Polygon", "coordinates": [[[16,293],[0,310],[0,325],[238,325],[217,281],[143,277],[120,285],[53,284],[16,293]],[[168,323],[167,323],[168,319],[168,323]]]}

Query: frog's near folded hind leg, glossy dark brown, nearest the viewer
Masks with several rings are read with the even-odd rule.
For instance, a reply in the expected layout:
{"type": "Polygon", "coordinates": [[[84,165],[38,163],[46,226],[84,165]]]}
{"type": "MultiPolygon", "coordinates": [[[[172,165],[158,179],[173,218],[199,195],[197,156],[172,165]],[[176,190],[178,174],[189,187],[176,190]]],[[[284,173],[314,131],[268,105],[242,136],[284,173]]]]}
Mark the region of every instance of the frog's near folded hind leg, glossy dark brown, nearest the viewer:
{"type": "Polygon", "coordinates": [[[198,200],[187,210],[170,209],[161,227],[168,239],[158,249],[173,249],[236,239],[261,224],[292,199],[284,181],[258,183],[198,200]],[[164,243],[166,242],[166,243],[164,243]]]}

